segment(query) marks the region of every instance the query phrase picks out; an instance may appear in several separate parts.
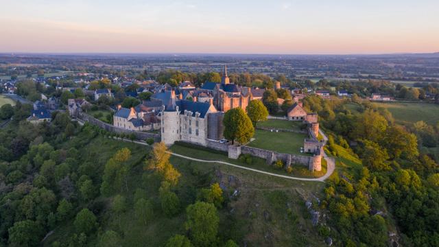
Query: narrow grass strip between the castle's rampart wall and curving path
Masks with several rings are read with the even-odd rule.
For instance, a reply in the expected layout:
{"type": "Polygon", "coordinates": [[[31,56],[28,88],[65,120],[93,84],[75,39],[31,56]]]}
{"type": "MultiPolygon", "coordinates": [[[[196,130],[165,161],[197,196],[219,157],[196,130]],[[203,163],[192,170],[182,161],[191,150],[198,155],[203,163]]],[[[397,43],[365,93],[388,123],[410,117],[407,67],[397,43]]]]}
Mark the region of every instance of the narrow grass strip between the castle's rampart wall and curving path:
{"type": "Polygon", "coordinates": [[[299,178],[318,178],[320,176],[323,176],[327,172],[326,161],[322,163],[322,171],[320,172],[309,172],[308,167],[304,165],[293,165],[292,173],[288,174],[285,171],[285,169],[278,169],[274,167],[274,165],[267,165],[265,159],[254,157],[254,156],[252,156],[252,163],[249,165],[243,161],[240,161],[239,159],[235,160],[233,158],[228,158],[225,152],[218,152],[215,150],[192,148],[178,144],[172,145],[171,150],[176,154],[182,154],[193,158],[200,158],[206,161],[225,161],[236,165],[242,165],[253,169],[259,169],[260,171],[263,172],[271,172],[274,174],[281,174],[284,176],[294,176],[299,178]]]}

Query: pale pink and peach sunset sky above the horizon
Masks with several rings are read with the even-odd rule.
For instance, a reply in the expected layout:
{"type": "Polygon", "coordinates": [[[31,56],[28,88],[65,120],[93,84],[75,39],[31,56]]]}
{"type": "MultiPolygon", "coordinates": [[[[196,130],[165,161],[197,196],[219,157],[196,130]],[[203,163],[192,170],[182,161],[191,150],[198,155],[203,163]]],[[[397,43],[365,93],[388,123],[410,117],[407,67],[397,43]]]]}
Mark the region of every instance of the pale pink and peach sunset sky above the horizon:
{"type": "Polygon", "coordinates": [[[439,51],[438,0],[0,0],[0,52],[439,51]]]}

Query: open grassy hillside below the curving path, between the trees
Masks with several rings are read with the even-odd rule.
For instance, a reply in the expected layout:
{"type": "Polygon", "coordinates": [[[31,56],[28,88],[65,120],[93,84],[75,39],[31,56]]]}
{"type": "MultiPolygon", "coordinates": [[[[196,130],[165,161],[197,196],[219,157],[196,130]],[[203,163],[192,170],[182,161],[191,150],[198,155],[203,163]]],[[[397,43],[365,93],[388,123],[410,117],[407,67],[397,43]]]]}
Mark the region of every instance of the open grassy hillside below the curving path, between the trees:
{"type": "MultiPolygon", "coordinates": [[[[233,191],[239,191],[239,196],[227,199],[230,200],[227,207],[219,209],[218,237],[221,242],[233,239],[239,246],[244,246],[244,243],[248,246],[325,246],[323,238],[312,226],[305,207],[305,200],[312,200],[314,196],[322,197],[323,183],[286,180],[227,165],[200,163],[172,156],[171,163],[182,174],[176,189],[182,207],[177,216],[166,217],[161,212],[158,200],[160,180],[152,172],[143,171],[150,148],[97,137],[82,145],[79,151],[84,156],[94,156],[97,160],[95,165],[102,170],[108,158],[124,147],[132,152],[129,190],[121,192],[127,198],[128,209],[115,214],[110,207],[112,197],[102,196],[91,204],[81,205],[101,205],[103,209],[97,211],[99,232],[116,231],[122,236],[122,246],[164,246],[172,235],[185,234],[185,208],[195,201],[194,195],[198,189],[209,187],[213,182],[224,185],[226,198],[233,191]],[[150,224],[139,222],[134,214],[132,204],[136,189],[143,189],[145,198],[154,202],[154,219],[150,224]]],[[[69,144],[64,148],[69,148],[69,144]]],[[[56,228],[43,246],[51,246],[54,241],[63,242],[73,232],[72,219],[56,228]]],[[[96,239],[97,234],[90,237],[96,239]]],[[[97,240],[92,240],[89,246],[97,246],[97,240]]]]}

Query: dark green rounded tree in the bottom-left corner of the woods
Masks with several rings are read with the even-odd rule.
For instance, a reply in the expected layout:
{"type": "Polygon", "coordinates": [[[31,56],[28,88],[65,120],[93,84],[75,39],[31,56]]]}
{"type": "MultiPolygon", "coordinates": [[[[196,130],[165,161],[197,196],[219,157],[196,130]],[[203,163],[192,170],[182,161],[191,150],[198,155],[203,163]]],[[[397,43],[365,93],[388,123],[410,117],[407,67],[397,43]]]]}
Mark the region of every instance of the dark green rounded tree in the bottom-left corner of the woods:
{"type": "Polygon", "coordinates": [[[39,246],[43,228],[32,220],[23,220],[15,222],[8,232],[10,246],[39,246]]]}

